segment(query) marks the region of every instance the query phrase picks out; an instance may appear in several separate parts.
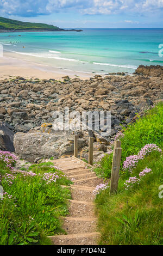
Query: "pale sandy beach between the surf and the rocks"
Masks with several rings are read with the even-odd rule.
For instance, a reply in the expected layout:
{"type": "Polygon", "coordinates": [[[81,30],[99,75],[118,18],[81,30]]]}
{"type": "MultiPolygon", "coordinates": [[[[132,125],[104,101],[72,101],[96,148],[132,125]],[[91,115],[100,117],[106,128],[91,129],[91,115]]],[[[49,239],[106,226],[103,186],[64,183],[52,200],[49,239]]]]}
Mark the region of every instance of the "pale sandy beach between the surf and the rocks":
{"type": "MultiPolygon", "coordinates": [[[[69,76],[70,78],[80,77],[80,79],[87,79],[91,74],[84,72],[75,72],[68,69],[62,69],[44,65],[41,63],[35,63],[31,59],[27,59],[26,56],[21,56],[16,53],[4,52],[3,57],[0,57],[0,80],[5,78],[14,78],[16,76],[22,76],[26,79],[39,78],[55,80],[61,79],[63,76],[69,76]]],[[[92,74],[93,75],[93,74],[92,74]]]]}

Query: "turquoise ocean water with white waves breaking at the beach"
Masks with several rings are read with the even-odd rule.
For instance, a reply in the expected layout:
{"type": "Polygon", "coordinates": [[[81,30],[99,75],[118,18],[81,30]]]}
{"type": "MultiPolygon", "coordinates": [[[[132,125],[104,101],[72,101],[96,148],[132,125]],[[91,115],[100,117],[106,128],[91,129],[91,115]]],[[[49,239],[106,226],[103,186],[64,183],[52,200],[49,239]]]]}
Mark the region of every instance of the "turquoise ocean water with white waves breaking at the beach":
{"type": "Polygon", "coordinates": [[[0,43],[20,58],[74,72],[132,74],[141,64],[163,65],[163,29],[0,33],[0,43]]]}

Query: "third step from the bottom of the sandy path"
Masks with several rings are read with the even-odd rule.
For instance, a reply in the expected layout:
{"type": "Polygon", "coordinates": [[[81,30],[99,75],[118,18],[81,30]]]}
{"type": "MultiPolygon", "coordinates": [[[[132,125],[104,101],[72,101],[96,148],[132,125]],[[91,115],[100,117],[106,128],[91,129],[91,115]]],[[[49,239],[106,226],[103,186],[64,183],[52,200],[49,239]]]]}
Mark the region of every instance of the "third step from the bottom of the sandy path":
{"type": "Polygon", "coordinates": [[[68,200],[69,216],[71,217],[95,217],[95,204],[90,201],[68,200]]]}

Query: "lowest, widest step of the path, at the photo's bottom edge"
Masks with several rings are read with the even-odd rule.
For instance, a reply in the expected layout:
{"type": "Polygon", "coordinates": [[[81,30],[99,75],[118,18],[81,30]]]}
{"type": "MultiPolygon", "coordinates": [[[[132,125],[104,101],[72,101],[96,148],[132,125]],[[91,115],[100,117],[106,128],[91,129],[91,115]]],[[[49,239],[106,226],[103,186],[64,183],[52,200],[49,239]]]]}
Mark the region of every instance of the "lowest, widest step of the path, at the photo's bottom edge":
{"type": "Polygon", "coordinates": [[[97,245],[98,232],[49,236],[53,245],[97,245]]]}

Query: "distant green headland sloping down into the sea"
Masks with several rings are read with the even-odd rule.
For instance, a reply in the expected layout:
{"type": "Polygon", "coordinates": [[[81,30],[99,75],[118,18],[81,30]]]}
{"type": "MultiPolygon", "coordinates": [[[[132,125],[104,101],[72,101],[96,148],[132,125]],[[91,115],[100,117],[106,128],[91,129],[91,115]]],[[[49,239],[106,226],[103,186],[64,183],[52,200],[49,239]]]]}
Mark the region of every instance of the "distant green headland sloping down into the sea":
{"type": "Polygon", "coordinates": [[[31,22],[22,22],[11,19],[6,19],[0,17],[0,30],[10,30],[10,31],[21,31],[21,30],[47,30],[47,31],[64,31],[53,25],[47,25],[44,23],[31,23],[31,22]]]}

